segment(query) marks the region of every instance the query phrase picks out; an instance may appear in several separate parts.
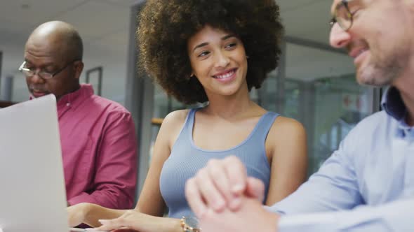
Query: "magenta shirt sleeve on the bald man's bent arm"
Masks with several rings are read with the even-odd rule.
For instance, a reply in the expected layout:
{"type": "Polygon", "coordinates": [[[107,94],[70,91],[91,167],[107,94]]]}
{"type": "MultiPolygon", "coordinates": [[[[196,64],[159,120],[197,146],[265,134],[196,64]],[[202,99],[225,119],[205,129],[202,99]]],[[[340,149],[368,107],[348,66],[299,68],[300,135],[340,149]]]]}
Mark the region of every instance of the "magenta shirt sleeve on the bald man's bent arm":
{"type": "Polygon", "coordinates": [[[114,112],[107,118],[95,166],[93,191],[68,199],[70,205],[88,202],[107,208],[133,207],[137,173],[137,140],[129,113],[114,112]]]}

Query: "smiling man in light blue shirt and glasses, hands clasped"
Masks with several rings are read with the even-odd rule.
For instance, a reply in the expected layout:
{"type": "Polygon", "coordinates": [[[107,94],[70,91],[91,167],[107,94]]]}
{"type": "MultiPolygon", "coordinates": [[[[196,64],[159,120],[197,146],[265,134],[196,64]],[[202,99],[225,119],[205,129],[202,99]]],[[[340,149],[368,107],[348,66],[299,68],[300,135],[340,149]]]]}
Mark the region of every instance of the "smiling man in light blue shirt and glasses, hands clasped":
{"type": "Polygon", "coordinates": [[[384,110],[267,209],[238,159],[211,161],[186,187],[203,232],[414,231],[414,1],[335,0],[332,13],[330,44],[354,58],[361,85],[389,85],[384,110]]]}

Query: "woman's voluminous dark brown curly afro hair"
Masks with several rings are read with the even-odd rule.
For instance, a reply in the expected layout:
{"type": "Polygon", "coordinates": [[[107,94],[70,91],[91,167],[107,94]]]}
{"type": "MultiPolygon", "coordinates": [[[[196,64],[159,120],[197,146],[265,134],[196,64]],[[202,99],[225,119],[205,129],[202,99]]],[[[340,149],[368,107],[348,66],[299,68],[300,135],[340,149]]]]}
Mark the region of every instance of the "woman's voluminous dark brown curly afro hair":
{"type": "Polygon", "coordinates": [[[208,101],[199,80],[189,78],[187,53],[187,41],[206,24],[243,42],[249,91],[279,63],[283,26],[274,0],[148,0],[138,20],[139,66],[182,103],[208,101]]]}

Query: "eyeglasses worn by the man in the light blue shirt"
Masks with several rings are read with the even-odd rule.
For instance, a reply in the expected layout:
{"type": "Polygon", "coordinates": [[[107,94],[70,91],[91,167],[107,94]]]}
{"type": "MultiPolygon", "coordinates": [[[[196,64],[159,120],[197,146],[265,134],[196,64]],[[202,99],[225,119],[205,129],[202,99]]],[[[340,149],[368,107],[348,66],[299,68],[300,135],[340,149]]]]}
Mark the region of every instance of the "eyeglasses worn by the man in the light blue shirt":
{"type": "Polygon", "coordinates": [[[333,27],[333,24],[336,22],[338,22],[339,26],[344,31],[347,31],[352,27],[352,23],[354,22],[354,13],[351,12],[351,7],[349,6],[352,1],[354,0],[342,0],[338,3],[333,12],[333,17],[329,22],[330,27],[333,27]]]}

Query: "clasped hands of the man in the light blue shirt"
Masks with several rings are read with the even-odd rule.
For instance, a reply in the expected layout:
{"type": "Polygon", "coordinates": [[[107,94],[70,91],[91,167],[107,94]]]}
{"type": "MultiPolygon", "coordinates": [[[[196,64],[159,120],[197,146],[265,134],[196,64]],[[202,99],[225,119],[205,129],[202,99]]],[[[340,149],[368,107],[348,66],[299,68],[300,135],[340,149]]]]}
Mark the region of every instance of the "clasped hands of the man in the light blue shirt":
{"type": "Polygon", "coordinates": [[[264,192],[236,157],[209,161],[185,188],[203,232],[276,231],[279,215],[262,207],[264,192]]]}

